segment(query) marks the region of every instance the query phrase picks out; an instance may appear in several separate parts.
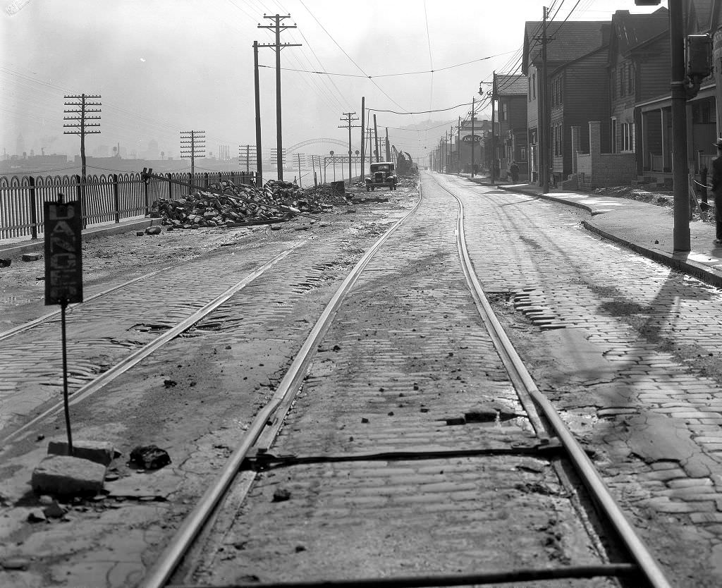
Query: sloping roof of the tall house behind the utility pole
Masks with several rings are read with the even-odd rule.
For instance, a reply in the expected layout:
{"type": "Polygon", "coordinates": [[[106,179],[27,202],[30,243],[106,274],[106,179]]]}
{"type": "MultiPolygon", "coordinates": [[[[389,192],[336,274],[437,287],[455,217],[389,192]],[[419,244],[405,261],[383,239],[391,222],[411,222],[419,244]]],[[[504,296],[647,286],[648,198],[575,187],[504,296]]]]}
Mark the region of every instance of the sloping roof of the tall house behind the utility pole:
{"type": "MultiPolygon", "coordinates": [[[[532,63],[541,61],[541,26],[539,21],[527,21],[524,25],[524,48],[521,71],[526,73],[532,63]]],[[[567,20],[548,22],[547,65],[559,66],[596,51],[609,42],[611,23],[606,20],[567,20]]]]}

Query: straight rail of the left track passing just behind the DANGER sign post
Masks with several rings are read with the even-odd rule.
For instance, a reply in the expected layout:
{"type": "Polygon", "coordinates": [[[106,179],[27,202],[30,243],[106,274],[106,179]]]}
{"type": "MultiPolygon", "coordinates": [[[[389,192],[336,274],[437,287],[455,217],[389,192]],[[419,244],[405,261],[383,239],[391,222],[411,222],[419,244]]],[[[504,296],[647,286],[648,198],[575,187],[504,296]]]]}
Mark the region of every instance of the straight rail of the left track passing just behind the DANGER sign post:
{"type": "MultiPolygon", "coordinates": [[[[230,288],[225,290],[225,292],[219,294],[212,301],[206,303],[202,308],[199,308],[198,311],[191,314],[191,316],[183,319],[183,321],[175,325],[175,327],[168,329],[168,331],[157,337],[155,340],[152,340],[152,342],[149,342],[147,345],[140,347],[138,350],[134,351],[134,353],[127,355],[108,371],[100,374],[100,376],[98,376],[96,379],[88,382],[84,386],[77,389],[77,391],[74,392],[70,399],[70,405],[76,405],[78,402],[86,399],[91,394],[94,394],[95,392],[103,388],[103,386],[109,384],[110,381],[113,381],[118,376],[126,373],[126,371],[128,371],[133,366],[136,366],[136,364],[138,364],[144,358],[147,358],[148,355],[154,353],[155,350],[157,350],[159,347],[162,347],[162,345],[165,345],[170,340],[175,339],[175,337],[178,337],[178,335],[193,327],[194,324],[201,321],[201,319],[204,319],[208,314],[212,313],[212,311],[225,303],[229,298],[231,298],[232,295],[238,293],[240,290],[243,290],[243,288],[253,282],[253,280],[256,280],[257,277],[264,274],[266,270],[273,267],[279,261],[290,255],[292,251],[294,251],[296,248],[302,246],[304,243],[308,243],[308,241],[309,239],[305,239],[303,241],[296,241],[295,243],[292,243],[289,248],[285,249],[277,256],[274,256],[274,258],[270,259],[269,261],[266,261],[265,264],[254,269],[253,272],[245,276],[243,280],[236,282],[230,288]]],[[[32,418],[32,420],[29,420],[27,423],[2,438],[0,440],[0,443],[6,444],[7,442],[12,441],[14,438],[17,438],[20,434],[27,431],[27,429],[40,422],[40,420],[43,420],[51,415],[55,415],[56,413],[61,412],[63,408],[63,402],[56,402],[53,406],[41,412],[40,415],[35,416],[35,418],[32,418]]]]}

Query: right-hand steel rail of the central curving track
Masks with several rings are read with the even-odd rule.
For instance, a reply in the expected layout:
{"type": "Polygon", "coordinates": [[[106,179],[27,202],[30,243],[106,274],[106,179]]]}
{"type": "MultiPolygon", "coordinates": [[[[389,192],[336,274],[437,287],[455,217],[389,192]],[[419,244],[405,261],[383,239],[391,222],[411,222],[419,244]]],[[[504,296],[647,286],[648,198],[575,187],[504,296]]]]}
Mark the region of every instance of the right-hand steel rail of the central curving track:
{"type": "Polygon", "coordinates": [[[541,408],[544,418],[549,421],[549,424],[554,429],[554,433],[557,434],[562,446],[566,449],[576,472],[580,476],[580,479],[583,481],[589,493],[591,493],[591,496],[593,496],[596,500],[607,519],[609,519],[609,522],[612,523],[614,530],[624,543],[625,548],[628,550],[635,563],[637,563],[646,579],[648,579],[650,585],[653,588],[671,588],[671,584],[669,584],[669,581],[664,576],[664,573],[659,567],[656,559],[637,535],[634,527],[632,527],[630,522],[627,521],[624,513],[622,513],[622,509],[620,509],[617,502],[614,501],[612,494],[609,493],[609,489],[606,488],[604,480],[601,479],[601,476],[599,475],[599,472],[597,472],[596,467],[594,467],[594,464],[591,462],[591,459],[587,457],[584,449],[580,446],[571,431],[569,431],[567,425],[564,423],[557,410],[554,408],[552,403],[549,402],[549,399],[539,392],[539,389],[536,387],[534,379],[532,379],[531,374],[527,371],[521,357],[518,355],[512,342],[505,333],[502,324],[499,319],[497,319],[492,306],[489,301],[487,301],[482,285],[474,272],[474,264],[472,264],[471,258],[469,257],[469,251],[466,248],[466,238],[464,235],[464,204],[461,202],[461,199],[453,193],[453,191],[449,190],[439,182],[438,185],[451,194],[451,196],[456,199],[456,202],[458,202],[460,222],[456,238],[459,251],[462,254],[463,264],[465,264],[469,269],[469,271],[466,272],[469,289],[471,290],[471,295],[474,297],[474,301],[477,303],[479,314],[482,315],[484,323],[489,324],[491,327],[490,334],[492,336],[494,346],[505,365],[508,363],[507,369],[510,372],[510,375],[512,372],[514,373],[513,377],[523,383],[525,392],[529,394],[529,396],[534,399],[534,402],[536,402],[536,405],[541,408]]]}

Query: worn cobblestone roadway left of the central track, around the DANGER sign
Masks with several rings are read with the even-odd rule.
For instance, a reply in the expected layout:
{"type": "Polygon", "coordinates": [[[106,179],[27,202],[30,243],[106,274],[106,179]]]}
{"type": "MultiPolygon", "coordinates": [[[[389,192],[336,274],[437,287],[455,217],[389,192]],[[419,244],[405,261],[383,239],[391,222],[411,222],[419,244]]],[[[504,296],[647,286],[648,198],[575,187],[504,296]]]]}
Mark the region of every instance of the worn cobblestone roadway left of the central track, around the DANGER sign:
{"type": "MultiPolygon", "coordinates": [[[[308,240],[195,329],[71,407],[74,438],[110,441],[123,454],[110,470],[105,495],[63,503],[66,514],[60,518],[29,523],[30,514],[45,508],[30,491],[30,472],[48,441],[64,440],[62,418],[48,419],[31,431],[32,436],[4,446],[0,584],[135,585],[264,405],[337,282],[390,222],[406,214],[416,192],[398,191],[392,196],[388,203],[344,207],[320,226],[288,223],[281,230],[264,231],[264,238],[248,235],[153,280],[136,282],[130,290],[78,306],[69,329],[70,347],[80,348],[70,361],[78,374],[75,389],[290,243],[308,240]],[[86,364],[92,367],[77,368],[86,364]],[[43,433],[38,441],[35,433],[43,433]],[[172,464],[147,474],[129,468],[125,460],[130,450],[147,444],[167,449],[172,464]]],[[[57,324],[42,329],[51,333],[43,331],[44,339],[57,338],[57,324]]],[[[43,372],[46,375],[38,379],[50,378],[52,366],[43,364],[51,360],[54,365],[57,360],[39,345],[42,341],[35,329],[6,340],[14,342],[3,347],[6,375],[43,372]],[[31,333],[35,345],[26,345],[34,358],[22,356],[19,345],[31,333]],[[18,358],[25,360],[22,369],[15,367],[18,358]]],[[[14,376],[15,395],[4,401],[17,399],[19,416],[46,398],[43,394],[57,398],[57,372],[52,375],[52,380],[44,380],[46,389],[27,384],[22,375],[14,376]],[[33,402],[22,407],[27,397],[33,402]]]]}

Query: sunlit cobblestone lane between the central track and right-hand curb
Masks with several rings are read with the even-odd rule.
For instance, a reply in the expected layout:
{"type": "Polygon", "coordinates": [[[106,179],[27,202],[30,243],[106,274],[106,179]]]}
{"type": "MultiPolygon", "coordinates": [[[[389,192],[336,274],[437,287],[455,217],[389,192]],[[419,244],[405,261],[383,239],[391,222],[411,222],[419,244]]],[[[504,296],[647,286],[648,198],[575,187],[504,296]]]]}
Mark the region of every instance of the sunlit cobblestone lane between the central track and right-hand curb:
{"type": "Polygon", "coordinates": [[[722,585],[722,294],[578,229],[578,210],[440,181],[539,388],[673,584],[722,585]]]}

